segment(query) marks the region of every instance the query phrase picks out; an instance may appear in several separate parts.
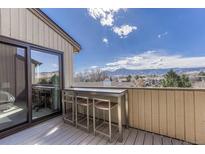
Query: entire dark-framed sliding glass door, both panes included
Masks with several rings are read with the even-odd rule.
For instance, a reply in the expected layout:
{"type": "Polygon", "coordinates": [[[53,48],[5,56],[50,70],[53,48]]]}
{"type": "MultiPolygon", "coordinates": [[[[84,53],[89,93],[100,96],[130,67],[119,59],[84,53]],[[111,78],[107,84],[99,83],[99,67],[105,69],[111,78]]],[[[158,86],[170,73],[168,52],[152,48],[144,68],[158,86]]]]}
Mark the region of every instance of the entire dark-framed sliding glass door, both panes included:
{"type": "Polygon", "coordinates": [[[61,112],[62,58],[0,36],[0,137],[61,112]]]}

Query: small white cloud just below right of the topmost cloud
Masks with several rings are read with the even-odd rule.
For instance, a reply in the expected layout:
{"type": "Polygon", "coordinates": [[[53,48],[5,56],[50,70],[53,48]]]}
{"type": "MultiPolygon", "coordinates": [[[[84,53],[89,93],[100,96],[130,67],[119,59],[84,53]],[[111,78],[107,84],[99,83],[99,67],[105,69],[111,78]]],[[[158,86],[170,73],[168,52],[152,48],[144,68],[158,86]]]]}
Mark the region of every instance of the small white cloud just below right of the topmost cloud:
{"type": "Polygon", "coordinates": [[[120,27],[117,26],[113,27],[113,32],[119,35],[120,38],[126,38],[128,34],[133,32],[134,30],[137,30],[136,26],[122,25],[120,27]]]}

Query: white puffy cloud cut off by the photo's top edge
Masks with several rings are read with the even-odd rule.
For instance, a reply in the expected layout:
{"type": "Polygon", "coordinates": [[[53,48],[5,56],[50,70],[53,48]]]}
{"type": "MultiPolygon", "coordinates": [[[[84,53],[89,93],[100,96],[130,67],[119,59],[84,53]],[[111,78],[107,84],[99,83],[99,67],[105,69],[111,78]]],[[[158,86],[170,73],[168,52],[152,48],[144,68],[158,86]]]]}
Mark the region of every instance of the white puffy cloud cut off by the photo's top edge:
{"type": "Polygon", "coordinates": [[[91,8],[88,9],[88,14],[95,20],[99,20],[102,26],[113,26],[114,15],[119,11],[119,8],[91,8]]]}

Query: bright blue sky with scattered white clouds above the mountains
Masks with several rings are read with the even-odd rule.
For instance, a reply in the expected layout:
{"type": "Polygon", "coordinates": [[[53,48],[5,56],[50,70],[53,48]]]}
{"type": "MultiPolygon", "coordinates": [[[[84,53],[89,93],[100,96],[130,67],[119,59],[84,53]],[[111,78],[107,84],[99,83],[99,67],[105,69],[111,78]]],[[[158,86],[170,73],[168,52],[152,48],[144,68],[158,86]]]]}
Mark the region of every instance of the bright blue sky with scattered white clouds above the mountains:
{"type": "Polygon", "coordinates": [[[205,9],[42,9],[78,41],[74,71],[205,66],[205,9]]]}

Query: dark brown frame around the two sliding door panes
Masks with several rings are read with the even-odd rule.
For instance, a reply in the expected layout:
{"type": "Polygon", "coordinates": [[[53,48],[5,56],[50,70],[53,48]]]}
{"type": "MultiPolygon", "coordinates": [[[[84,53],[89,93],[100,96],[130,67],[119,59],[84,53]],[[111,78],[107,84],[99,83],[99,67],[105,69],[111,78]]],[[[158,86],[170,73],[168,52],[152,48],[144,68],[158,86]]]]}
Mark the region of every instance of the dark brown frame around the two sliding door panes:
{"type": "Polygon", "coordinates": [[[36,125],[40,122],[46,121],[48,119],[54,118],[56,116],[61,115],[62,113],[62,102],[61,102],[61,93],[60,93],[60,111],[57,113],[53,113],[51,115],[36,119],[36,120],[32,120],[32,79],[31,79],[31,49],[37,49],[37,50],[42,50],[42,51],[47,51],[49,53],[57,53],[60,56],[60,90],[64,87],[64,52],[63,51],[59,51],[59,50],[55,50],[55,49],[50,49],[47,47],[43,47],[40,45],[35,45],[32,43],[28,43],[28,42],[24,42],[24,41],[20,41],[17,39],[13,39],[7,36],[2,36],[0,35],[0,43],[3,44],[7,44],[7,45],[11,45],[11,46],[15,46],[15,47],[21,47],[25,49],[25,57],[26,57],[26,100],[27,100],[27,122],[26,123],[22,123],[19,125],[15,125],[14,127],[10,127],[7,130],[0,132],[0,139],[3,137],[6,137],[8,135],[14,134],[20,130],[29,128],[33,125],[36,125]]]}

